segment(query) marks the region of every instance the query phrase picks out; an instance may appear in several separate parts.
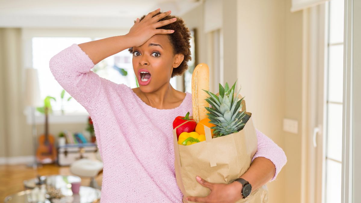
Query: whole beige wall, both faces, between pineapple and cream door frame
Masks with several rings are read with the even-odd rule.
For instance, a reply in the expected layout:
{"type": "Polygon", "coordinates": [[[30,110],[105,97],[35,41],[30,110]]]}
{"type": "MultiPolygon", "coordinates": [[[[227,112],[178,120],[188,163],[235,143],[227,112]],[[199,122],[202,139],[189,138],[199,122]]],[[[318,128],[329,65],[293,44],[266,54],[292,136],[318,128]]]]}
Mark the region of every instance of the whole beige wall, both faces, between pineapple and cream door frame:
{"type": "Polygon", "coordinates": [[[239,0],[238,78],[255,126],[287,156],[277,180],[268,183],[270,202],[300,202],[301,131],[283,131],[283,118],[299,121],[302,111],[302,12],[291,0],[239,0]],[[244,77],[248,75],[250,77],[244,77]]]}

